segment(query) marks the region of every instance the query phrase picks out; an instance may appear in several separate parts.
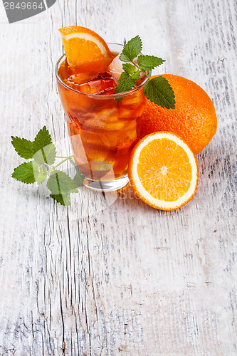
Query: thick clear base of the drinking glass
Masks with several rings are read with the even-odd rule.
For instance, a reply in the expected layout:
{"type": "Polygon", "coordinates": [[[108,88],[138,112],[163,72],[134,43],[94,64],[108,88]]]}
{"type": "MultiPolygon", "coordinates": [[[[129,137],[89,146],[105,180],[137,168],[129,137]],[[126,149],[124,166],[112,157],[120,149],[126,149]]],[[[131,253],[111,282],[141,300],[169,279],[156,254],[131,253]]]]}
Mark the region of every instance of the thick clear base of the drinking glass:
{"type": "Polygon", "coordinates": [[[98,192],[115,192],[115,190],[125,187],[128,183],[127,174],[121,178],[113,179],[110,181],[101,182],[100,180],[93,180],[90,178],[85,178],[84,185],[90,189],[96,190],[98,192]],[[86,183],[85,183],[86,182],[86,183]]]}

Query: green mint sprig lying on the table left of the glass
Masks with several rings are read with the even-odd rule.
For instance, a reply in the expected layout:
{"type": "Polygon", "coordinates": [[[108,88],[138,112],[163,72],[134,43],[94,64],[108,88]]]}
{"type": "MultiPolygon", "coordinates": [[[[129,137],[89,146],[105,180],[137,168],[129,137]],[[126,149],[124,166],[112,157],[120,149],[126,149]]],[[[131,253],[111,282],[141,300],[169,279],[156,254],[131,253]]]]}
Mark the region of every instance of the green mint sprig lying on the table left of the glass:
{"type": "Polygon", "coordinates": [[[19,167],[14,168],[11,177],[26,184],[38,185],[48,179],[46,187],[50,190],[50,197],[64,206],[70,205],[70,194],[78,193],[78,187],[83,185],[85,176],[73,161],[73,157],[63,157],[63,160],[53,166],[56,161],[56,147],[46,126],[39,130],[33,141],[20,137],[11,137],[11,143],[18,155],[25,159],[19,167]],[[60,164],[69,160],[75,167],[75,177],[72,179],[63,171],[56,169],[60,164]]]}

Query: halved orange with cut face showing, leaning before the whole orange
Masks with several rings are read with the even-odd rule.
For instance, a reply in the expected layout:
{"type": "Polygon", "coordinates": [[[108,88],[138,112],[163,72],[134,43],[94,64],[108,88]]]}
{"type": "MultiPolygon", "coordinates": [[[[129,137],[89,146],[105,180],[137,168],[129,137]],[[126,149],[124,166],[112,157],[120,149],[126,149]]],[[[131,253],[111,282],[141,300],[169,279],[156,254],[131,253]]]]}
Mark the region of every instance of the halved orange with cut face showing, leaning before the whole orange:
{"type": "Polygon", "coordinates": [[[132,189],[156,209],[175,210],[188,203],[199,179],[194,153],[172,132],[154,132],[140,140],[128,164],[132,189]]]}

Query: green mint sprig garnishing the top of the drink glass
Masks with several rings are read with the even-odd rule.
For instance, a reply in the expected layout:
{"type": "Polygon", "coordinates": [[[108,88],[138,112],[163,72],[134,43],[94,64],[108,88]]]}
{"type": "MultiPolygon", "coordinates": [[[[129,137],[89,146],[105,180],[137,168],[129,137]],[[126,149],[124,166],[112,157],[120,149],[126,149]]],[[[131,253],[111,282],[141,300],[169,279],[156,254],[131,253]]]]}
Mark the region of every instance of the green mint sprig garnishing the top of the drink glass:
{"type": "MultiPolygon", "coordinates": [[[[142,40],[139,36],[132,38],[124,46],[120,54],[120,61],[125,62],[122,65],[124,72],[120,75],[115,93],[125,93],[134,88],[136,81],[142,78],[142,73],[145,73],[148,80],[143,88],[144,95],[162,108],[174,109],[174,90],[172,90],[168,80],[162,75],[149,79],[147,74],[150,70],[164,63],[164,59],[156,56],[143,56],[140,54],[141,51],[142,40]]],[[[122,100],[123,97],[124,95],[121,95],[121,98],[117,98],[116,102],[122,100]]]]}

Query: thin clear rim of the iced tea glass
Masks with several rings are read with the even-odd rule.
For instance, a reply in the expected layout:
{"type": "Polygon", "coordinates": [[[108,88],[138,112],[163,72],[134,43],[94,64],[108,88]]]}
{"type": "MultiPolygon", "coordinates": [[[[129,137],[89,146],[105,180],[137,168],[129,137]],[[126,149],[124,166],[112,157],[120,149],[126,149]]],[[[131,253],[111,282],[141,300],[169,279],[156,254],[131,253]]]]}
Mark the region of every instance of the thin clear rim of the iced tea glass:
{"type": "MultiPolygon", "coordinates": [[[[120,43],[112,43],[112,42],[108,42],[107,45],[117,45],[117,46],[124,46],[120,43]]],[[[74,89],[74,88],[71,88],[69,85],[66,85],[63,80],[61,80],[60,76],[58,75],[58,65],[60,63],[60,61],[62,61],[62,59],[65,57],[65,53],[63,53],[63,56],[60,56],[60,58],[58,59],[57,63],[56,63],[56,66],[55,66],[55,73],[56,73],[56,78],[58,80],[58,82],[60,84],[62,84],[65,88],[68,88],[70,90],[73,90],[75,91],[76,93],[80,93],[80,94],[83,94],[85,96],[88,96],[90,98],[97,98],[97,99],[111,99],[111,98],[121,98],[122,96],[125,96],[125,95],[130,95],[130,94],[133,94],[133,93],[136,93],[138,90],[141,90],[144,85],[147,83],[147,81],[149,80],[151,74],[152,74],[152,70],[149,70],[147,75],[148,75],[148,78],[146,77],[142,83],[140,83],[139,85],[137,85],[136,88],[132,88],[131,90],[128,90],[128,91],[125,91],[123,93],[116,93],[116,94],[105,94],[105,95],[99,95],[99,94],[90,94],[90,93],[84,93],[83,91],[80,91],[80,90],[77,90],[77,89],[74,89]]]]}

